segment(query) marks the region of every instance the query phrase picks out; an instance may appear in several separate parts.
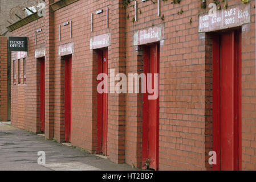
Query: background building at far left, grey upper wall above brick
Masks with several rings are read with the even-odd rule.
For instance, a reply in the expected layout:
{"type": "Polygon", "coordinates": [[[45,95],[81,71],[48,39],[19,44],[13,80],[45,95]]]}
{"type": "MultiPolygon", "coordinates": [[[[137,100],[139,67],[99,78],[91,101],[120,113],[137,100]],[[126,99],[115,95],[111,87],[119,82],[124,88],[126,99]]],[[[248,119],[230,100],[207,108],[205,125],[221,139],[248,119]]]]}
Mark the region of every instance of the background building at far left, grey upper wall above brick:
{"type": "Polygon", "coordinates": [[[19,20],[39,10],[42,0],[0,0],[0,120],[10,121],[11,109],[11,56],[7,51],[7,38],[11,32],[7,26],[17,23],[19,20]],[[3,37],[5,36],[5,37],[3,37]]]}

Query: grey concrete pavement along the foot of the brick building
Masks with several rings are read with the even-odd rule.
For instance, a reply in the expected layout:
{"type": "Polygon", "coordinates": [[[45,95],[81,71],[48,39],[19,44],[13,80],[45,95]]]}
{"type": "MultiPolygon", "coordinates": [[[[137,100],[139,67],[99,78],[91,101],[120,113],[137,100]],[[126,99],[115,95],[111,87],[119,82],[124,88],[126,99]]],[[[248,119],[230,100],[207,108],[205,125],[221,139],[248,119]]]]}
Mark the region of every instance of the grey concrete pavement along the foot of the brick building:
{"type": "Polygon", "coordinates": [[[0,170],[138,170],[0,122],[0,170]],[[46,164],[38,164],[38,151],[46,164]]]}

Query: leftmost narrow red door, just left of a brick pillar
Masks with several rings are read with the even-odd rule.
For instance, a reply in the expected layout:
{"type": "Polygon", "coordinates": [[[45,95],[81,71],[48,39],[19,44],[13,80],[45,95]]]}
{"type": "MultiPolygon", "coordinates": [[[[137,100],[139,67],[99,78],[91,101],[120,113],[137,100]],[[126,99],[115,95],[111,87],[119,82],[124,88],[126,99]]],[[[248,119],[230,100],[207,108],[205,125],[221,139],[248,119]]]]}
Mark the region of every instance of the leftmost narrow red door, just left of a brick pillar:
{"type": "Polygon", "coordinates": [[[44,133],[44,122],[45,122],[45,114],[44,114],[44,57],[40,59],[40,128],[41,133],[44,133]]]}

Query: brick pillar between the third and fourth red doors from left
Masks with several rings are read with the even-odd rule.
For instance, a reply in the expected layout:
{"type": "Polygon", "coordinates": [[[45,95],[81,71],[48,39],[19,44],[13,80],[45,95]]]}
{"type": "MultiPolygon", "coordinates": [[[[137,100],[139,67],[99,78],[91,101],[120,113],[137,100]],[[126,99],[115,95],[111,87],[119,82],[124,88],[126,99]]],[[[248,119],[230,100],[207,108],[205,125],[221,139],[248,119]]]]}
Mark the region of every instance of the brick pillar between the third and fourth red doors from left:
{"type": "MultiPolygon", "coordinates": [[[[112,0],[111,60],[109,68],[125,73],[125,10],[121,0],[112,0]]],[[[125,94],[108,94],[108,155],[124,163],[125,94]]]]}

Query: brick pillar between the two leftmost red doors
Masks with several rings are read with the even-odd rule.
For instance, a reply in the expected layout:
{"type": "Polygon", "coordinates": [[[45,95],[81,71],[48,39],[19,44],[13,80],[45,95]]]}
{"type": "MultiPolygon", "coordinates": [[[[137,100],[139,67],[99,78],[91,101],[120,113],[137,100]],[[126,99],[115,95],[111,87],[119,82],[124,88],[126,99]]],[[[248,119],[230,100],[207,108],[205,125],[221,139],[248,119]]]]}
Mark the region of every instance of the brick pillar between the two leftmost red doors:
{"type": "Polygon", "coordinates": [[[45,57],[45,136],[54,138],[54,12],[52,0],[46,0],[46,57],[45,57]]]}

